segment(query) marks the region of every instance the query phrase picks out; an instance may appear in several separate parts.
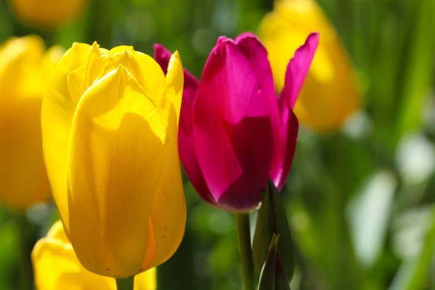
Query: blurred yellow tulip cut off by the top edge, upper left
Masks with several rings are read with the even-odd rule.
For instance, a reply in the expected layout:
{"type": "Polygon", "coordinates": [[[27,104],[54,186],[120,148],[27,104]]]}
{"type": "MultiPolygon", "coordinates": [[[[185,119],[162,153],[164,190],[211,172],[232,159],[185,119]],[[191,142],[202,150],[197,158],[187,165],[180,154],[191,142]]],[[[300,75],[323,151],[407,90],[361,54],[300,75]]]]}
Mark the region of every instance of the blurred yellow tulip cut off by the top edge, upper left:
{"type": "Polygon", "coordinates": [[[78,18],[88,0],[9,0],[17,18],[26,24],[54,29],[78,18]]]}

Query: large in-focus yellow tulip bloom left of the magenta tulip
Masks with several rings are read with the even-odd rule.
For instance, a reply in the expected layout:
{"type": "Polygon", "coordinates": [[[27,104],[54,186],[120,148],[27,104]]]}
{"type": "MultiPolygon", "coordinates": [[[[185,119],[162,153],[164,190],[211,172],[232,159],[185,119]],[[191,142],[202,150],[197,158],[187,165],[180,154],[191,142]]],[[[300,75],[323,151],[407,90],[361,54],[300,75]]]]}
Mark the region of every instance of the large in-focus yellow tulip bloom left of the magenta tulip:
{"type": "Polygon", "coordinates": [[[130,277],[169,259],[186,226],[178,153],[183,67],[133,47],[74,43],[42,102],[54,200],[81,264],[130,277]]]}

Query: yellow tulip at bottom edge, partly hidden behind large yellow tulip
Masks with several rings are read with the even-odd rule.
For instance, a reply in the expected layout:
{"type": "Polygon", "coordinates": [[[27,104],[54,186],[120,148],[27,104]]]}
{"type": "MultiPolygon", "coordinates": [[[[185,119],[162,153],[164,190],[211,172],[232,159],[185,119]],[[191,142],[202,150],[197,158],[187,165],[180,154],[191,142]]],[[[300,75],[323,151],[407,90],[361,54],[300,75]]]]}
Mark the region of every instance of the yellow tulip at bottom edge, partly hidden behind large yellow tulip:
{"type": "MultiPolygon", "coordinates": [[[[116,290],[115,279],[80,264],[60,220],[35,244],[31,258],[36,290],[116,290]]],[[[136,275],[134,289],[155,290],[156,283],[156,268],[151,268],[136,275]]]]}

